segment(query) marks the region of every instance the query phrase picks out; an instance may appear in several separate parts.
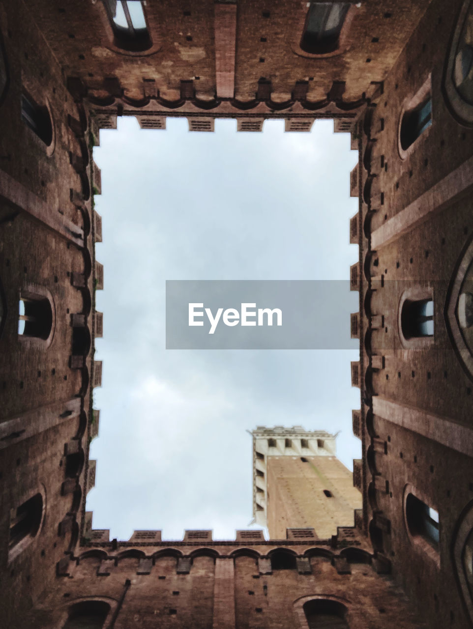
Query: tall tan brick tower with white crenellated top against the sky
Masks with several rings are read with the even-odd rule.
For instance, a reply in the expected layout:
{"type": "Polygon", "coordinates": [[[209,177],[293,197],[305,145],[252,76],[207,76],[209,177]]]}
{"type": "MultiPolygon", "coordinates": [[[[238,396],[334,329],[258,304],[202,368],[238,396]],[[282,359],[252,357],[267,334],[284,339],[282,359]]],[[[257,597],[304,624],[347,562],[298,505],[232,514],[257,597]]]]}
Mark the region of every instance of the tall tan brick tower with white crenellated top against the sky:
{"type": "Polygon", "coordinates": [[[253,436],[253,516],[270,538],[314,528],[318,538],[353,526],[362,506],[352,472],[337,459],[336,435],[302,426],[257,426],[253,436]]]}

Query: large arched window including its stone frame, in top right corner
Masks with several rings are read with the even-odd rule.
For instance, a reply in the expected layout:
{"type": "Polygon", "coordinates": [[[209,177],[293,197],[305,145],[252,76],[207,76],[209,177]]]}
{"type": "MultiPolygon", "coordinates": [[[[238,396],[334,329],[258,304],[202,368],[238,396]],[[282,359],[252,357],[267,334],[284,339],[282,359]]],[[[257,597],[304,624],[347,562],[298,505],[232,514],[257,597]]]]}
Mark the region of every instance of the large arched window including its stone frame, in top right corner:
{"type": "Polygon", "coordinates": [[[455,120],[473,126],[473,3],[464,0],[445,60],[442,91],[455,120]]]}

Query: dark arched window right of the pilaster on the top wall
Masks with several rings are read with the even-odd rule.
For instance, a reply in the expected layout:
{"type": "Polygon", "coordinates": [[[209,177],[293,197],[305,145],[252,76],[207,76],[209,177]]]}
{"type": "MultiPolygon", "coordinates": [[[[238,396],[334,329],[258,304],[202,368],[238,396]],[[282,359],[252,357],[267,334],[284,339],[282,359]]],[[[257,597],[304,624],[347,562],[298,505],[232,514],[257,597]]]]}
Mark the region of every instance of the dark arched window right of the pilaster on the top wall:
{"type": "Polygon", "coordinates": [[[350,3],[310,3],[301,39],[304,52],[323,55],[340,47],[340,31],[350,3]]]}

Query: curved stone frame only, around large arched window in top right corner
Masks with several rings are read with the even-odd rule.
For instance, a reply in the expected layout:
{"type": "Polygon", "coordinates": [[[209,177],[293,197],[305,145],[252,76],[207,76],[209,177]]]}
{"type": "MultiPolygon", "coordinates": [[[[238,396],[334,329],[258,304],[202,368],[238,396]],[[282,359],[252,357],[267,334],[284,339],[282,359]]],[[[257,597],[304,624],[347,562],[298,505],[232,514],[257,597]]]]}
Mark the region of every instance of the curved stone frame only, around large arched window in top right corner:
{"type": "Polygon", "coordinates": [[[464,0],[455,23],[450,48],[448,49],[447,59],[445,60],[445,68],[443,70],[442,79],[442,92],[448,111],[450,111],[452,116],[460,125],[464,126],[473,126],[473,104],[467,103],[467,101],[465,101],[460,95],[459,91],[457,91],[452,79],[452,74],[454,72],[455,57],[457,47],[459,45],[460,35],[462,34],[465,19],[467,18],[470,7],[473,11],[473,4],[471,0],[464,0]]]}

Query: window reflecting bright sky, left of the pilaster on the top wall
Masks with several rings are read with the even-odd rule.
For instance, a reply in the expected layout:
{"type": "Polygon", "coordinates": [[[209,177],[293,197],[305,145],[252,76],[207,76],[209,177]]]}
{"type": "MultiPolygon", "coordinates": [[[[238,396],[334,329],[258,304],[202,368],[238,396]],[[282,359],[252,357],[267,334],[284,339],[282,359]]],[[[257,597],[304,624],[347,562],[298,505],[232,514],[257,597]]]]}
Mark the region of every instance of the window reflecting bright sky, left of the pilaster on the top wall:
{"type": "Polygon", "coordinates": [[[130,52],[143,52],[151,47],[145,3],[141,0],[104,0],[118,48],[130,52]]]}

